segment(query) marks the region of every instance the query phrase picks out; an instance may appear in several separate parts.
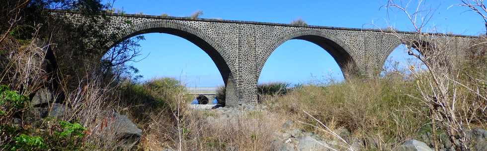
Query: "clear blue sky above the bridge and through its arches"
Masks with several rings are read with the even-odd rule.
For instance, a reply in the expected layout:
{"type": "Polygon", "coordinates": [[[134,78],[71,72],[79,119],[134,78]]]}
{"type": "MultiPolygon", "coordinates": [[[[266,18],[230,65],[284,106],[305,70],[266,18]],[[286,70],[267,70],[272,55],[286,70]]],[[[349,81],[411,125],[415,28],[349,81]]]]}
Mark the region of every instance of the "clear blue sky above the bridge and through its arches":
{"type": "MultiPolygon", "coordinates": [[[[407,0],[406,0],[407,1],[407,0]]],[[[429,26],[438,32],[463,35],[485,33],[484,24],[467,8],[452,6],[460,0],[426,0],[436,9],[429,26]]],[[[127,13],[143,12],[148,15],[189,16],[203,11],[201,18],[220,18],[274,23],[290,23],[302,18],[309,25],[372,28],[391,25],[410,31],[403,13],[390,11],[386,15],[382,5],[386,0],[117,0],[114,7],[127,13]],[[374,25],[371,25],[374,24],[374,25]]],[[[214,87],[223,80],[210,57],[194,44],[168,34],[146,34],[142,53],[147,58],[133,65],[140,69],[143,80],[154,77],[175,77],[190,87],[214,87]]],[[[397,50],[390,57],[405,62],[408,57],[397,50]]],[[[307,83],[332,77],[343,79],[333,58],[317,45],[290,40],[278,47],[269,57],[260,75],[259,83],[283,81],[307,83]],[[282,66],[286,67],[283,70],[282,66]]]]}

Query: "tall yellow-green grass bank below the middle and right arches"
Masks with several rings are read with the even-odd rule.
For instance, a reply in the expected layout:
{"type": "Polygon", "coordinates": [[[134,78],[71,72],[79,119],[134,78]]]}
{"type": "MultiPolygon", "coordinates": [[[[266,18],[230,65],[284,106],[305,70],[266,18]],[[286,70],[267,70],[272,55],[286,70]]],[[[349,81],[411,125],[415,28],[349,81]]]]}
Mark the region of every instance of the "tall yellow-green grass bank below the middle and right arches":
{"type": "MultiPolygon", "coordinates": [[[[365,140],[370,148],[393,148],[405,139],[417,137],[428,122],[417,114],[423,110],[414,110],[422,104],[406,95],[415,92],[412,84],[401,78],[350,79],[328,86],[304,86],[283,97],[267,98],[264,103],[294,120],[321,126],[304,110],[333,131],[345,128],[353,136],[374,138],[365,140]]],[[[333,138],[314,126],[304,124],[301,129],[333,138]]]]}

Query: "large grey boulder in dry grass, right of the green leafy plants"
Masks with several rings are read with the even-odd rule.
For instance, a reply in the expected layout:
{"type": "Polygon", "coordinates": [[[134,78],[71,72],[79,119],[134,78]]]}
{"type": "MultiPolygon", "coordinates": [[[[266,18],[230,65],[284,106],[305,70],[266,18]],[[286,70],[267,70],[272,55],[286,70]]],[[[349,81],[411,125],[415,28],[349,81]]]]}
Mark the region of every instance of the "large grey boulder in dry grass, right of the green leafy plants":
{"type": "Polygon", "coordinates": [[[116,138],[126,147],[131,148],[137,145],[142,136],[139,129],[126,115],[114,113],[113,121],[109,124],[109,130],[115,133],[116,138]]]}

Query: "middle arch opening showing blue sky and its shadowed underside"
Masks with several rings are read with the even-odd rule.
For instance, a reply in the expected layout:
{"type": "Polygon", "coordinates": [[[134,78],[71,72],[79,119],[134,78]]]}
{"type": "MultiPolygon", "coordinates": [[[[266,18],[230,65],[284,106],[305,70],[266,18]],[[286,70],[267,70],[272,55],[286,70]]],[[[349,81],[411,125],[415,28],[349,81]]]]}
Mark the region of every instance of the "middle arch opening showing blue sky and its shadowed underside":
{"type": "Polygon", "coordinates": [[[349,56],[342,51],[338,45],[319,36],[307,35],[287,40],[266,59],[258,84],[285,82],[300,85],[343,81],[346,78],[343,74],[345,64],[340,63],[349,61],[349,56]]]}

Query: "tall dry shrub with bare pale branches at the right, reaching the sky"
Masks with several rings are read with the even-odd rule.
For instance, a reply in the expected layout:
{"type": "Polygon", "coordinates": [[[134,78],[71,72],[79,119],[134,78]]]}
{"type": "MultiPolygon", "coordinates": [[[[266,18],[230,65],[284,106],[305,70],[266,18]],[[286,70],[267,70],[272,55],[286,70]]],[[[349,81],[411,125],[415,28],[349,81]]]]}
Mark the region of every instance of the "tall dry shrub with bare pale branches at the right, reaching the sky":
{"type": "MultiPolygon", "coordinates": [[[[403,44],[408,46],[408,54],[416,57],[425,64],[425,72],[413,71],[416,89],[420,92],[420,100],[429,109],[428,118],[431,120],[433,144],[438,151],[438,130],[444,131],[451,144],[458,151],[470,151],[471,141],[467,135],[472,123],[472,115],[485,111],[487,99],[479,86],[464,84],[461,80],[462,70],[459,67],[461,57],[454,50],[452,39],[448,35],[423,33],[428,21],[432,18],[433,10],[424,7],[422,0],[415,1],[413,12],[402,2],[388,0],[388,9],[404,12],[411,26],[414,27],[414,40],[402,39],[399,34],[392,32],[403,44]],[[417,50],[417,52],[413,51],[417,50]],[[479,99],[470,100],[471,96],[479,99]],[[479,110],[480,109],[480,110],[479,110]],[[456,143],[458,141],[458,143],[456,143]]],[[[463,50],[466,52],[466,50],[463,50]]]]}

